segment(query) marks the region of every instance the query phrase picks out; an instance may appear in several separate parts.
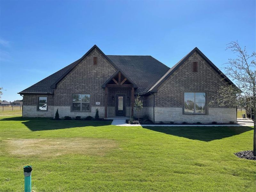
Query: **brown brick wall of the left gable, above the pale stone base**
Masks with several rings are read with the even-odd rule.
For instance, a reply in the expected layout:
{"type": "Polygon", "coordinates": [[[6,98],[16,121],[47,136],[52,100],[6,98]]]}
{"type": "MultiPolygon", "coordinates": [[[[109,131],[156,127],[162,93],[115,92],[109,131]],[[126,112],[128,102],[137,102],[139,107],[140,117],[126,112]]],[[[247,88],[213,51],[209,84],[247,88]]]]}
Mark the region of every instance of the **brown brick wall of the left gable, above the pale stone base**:
{"type": "MultiPolygon", "coordinates": [[[[72,106],[72,94],[90,94],[92,106],[105,105],[105,90],[101,87],[116,69],[97,49],[94,49],[58,84],[54,91],[55,106],[72,106]],[[97,64],[93,58],[97,57],[97,64]],[[100,105],[96,105],[100,102],[100,105]]],[[[72,108],[71,108],[72,111],[72,108]]]]}

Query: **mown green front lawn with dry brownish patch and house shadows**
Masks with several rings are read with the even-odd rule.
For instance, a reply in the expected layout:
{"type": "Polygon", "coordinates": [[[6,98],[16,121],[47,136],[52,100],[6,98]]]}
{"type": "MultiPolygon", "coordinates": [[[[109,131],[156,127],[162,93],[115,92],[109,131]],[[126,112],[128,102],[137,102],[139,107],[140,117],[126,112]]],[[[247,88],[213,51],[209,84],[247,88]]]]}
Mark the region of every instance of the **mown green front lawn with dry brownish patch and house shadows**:
{"type": "Polygon", "coordinates": [[[119,127],[0,117],[0,191],[255,191],[251,127],[119,127]]]}

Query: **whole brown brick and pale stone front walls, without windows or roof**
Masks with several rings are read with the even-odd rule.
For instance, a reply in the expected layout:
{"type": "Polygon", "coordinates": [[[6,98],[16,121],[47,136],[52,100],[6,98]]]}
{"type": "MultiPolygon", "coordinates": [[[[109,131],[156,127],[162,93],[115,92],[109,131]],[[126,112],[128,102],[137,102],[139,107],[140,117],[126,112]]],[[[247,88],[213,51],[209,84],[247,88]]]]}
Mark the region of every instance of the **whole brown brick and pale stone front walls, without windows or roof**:
{"type": "MultiPolygon", "coordinates": [[[[23,116],[53,117],[59,109],[61,118],[64,116],[85,117],[95,116],[96,109],[99,109],[100,117],[103,118],[106,108],[105,88],[102,88],[102,85],[117,71],[113,65],[99,50],[94,48],[57,84],[54,95],[24,94],[23,116]],[[97,57],[97,64],[94,63],[95,57],[97,57]],[[89,110],[72,111],[72,94],[90,94],[89,110]],[[38,111],[39,97],[47,97],[47,111],[38,111]],[[96,105],[96,102],[100,102],[100,105],[96,105]]],[[[233,106],[220,107],[216,102],[210,104],[210,101],[220,97],[218,91],[225,84],[212,66],[197,52],[194,52],[158,87],[157,92],[147,96],[141,95],[143,110],[139,114],[135,111],[134,116],[146,115],[155,122],[222,122],[222,120],[228,122],[230,119],[235,121],[233,106]],[[196,72],[193,72],[193,62],[197,62],[196,72]],[[184,114],[184,92],[206,93],[205,114],[200,114],[200,116],[184,114]]],[[[132,88],[108,87],[108,117],[115,116],[116,95],[124,95],[125,116],[130,116],[132,88]],[[128,97],[129,100],[127,100],[128,97]]]]}

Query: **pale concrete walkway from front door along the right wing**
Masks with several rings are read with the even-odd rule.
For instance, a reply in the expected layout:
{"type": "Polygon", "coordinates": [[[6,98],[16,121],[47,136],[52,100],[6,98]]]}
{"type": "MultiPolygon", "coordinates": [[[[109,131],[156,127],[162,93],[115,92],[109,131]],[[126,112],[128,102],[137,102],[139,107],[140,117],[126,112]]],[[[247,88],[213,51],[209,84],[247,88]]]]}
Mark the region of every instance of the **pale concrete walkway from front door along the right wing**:
{"type": "MultiPolygon", "coordinates": [[[[112,123],[111,123],[111,125],[116,125],[116,126],[125,126],[125,127],[132,127],[132,126],[161,126],[161,127],[222,127],[222,126],[228,126],[228,127],[230,127],[230,126],[253,126],[253,123],[252,123],[252,125],[251,124],[248,124],[248,123],[244,123],[244,122],[241,122],[240,123],[240,121],[238,121],[238,124],[230,124],[230,125],[214,125],[214,124],[212,124],[212,125],[204,125],[204,124],[201,124],[201,125],[186,125],[186,124],[184,124],[184,125],[181,125],[181,124],[170,124],[170,125],[160,125],[160,124],[158,124],[158,125],[155,125],[155,124],[152,124],[152,125],[143,125],[143,124],[127,124],[127,123],[125,123],[125,120],[126,119],[129,119],[129,117],[110,117],[110,118],[107,118],[107,119],[113,119],[113,121],[112,121],[112,123]]],[[[252,121],[252,120],[251,120],[252,121]]]]}

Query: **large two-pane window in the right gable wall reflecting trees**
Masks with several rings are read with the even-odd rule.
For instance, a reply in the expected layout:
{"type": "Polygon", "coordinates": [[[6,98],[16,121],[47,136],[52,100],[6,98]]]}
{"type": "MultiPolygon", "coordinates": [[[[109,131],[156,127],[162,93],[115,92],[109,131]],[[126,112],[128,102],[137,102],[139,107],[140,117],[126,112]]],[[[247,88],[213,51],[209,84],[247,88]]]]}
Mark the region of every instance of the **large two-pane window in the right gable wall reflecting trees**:
{"type": "Polygon", "coordinates": [[[185,113],[205,113],[205,93],[185,92],[184,93],[184,112],[185,113]]]}

